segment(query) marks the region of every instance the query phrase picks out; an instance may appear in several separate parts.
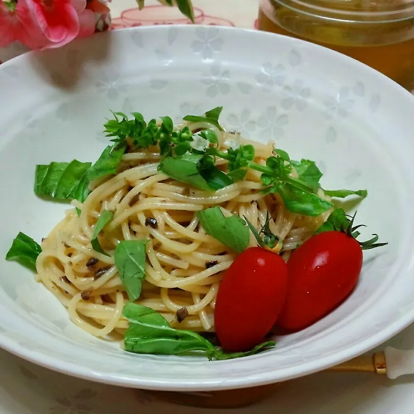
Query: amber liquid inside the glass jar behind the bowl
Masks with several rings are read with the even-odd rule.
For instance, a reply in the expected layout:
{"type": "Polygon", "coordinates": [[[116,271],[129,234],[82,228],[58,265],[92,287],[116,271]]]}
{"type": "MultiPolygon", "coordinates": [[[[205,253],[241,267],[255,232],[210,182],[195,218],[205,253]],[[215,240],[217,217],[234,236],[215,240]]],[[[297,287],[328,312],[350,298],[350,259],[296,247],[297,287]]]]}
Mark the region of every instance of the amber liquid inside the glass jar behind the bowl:
{"type": "Polygon", "coordinates": [[[324,19],[265,0],[259,29],[302,38],[351,56],[414,90],[414,16],[375,24],[324,19]],[[265,10],[265,11],[264,11],[265,10]],[[400,41],[399,41],[400,40],[400,41]]]}

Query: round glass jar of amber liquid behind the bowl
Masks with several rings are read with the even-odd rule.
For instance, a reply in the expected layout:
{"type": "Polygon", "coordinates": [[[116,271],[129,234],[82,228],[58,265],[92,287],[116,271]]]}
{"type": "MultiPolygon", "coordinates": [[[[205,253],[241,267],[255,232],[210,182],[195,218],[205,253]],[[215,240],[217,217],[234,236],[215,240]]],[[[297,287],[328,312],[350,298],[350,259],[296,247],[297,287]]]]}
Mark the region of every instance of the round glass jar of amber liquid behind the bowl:
{"type": "Polygon", "coordinates": [[[261,0],[259,29],[334,49],[414,89],[414,0],[261,0]]]}

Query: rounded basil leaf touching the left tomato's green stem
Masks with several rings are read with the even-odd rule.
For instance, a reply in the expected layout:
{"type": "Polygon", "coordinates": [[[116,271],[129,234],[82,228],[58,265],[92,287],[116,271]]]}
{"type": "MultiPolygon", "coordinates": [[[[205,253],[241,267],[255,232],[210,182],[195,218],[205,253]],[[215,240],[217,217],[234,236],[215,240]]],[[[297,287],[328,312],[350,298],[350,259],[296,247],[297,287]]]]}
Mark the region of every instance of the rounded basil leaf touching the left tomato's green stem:
{"type": "Polygon", "coordinates": [[[250,232],[246,223],[235,215],[224,217],[218,206],[197,213],[205,232],[220,243],[241,253],[246,249],[250,232]]]}

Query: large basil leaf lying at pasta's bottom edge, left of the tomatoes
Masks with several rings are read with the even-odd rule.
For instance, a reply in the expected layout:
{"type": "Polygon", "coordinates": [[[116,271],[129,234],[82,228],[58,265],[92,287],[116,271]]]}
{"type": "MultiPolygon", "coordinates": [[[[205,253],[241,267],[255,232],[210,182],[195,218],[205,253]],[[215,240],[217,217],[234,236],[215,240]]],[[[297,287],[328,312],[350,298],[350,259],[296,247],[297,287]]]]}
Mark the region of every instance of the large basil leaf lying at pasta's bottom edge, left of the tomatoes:
{"type": "Polygon", "coordinates": [[[195,332],[171,328],[164,316],[153,309],[127,303],[122,314],[129,321],[124,338],[126,351],[162,355],[205,351],[209,358],[216,353],[211,342],[195,332]]]}

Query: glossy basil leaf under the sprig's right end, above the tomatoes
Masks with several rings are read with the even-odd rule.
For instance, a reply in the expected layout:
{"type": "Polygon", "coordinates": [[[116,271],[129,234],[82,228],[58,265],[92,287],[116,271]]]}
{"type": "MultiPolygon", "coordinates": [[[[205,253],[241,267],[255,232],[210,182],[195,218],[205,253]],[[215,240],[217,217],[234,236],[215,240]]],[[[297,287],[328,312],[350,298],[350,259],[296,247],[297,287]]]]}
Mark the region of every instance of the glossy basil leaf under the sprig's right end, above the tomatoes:
{"type": "Polygon", "coordinates": [[[279,183],[276,189],[281,195],[286,209],[291,213],[316,217],[333,207],[331,202],[316,194],[297,189],[289,183],[279,183]]]}

